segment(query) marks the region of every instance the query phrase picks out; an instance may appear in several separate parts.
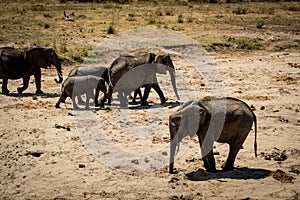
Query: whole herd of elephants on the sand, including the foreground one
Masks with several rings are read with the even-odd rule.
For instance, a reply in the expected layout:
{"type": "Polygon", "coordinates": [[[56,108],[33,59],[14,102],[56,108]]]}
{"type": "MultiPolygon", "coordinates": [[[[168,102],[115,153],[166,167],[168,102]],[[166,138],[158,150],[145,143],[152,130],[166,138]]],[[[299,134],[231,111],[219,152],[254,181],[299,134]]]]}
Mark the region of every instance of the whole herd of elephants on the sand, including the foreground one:
{"type": "MultiPolygon", "coordinates": [[[[0,48],[0,79],[2,94],[9,95],[7,88],[9,79],[23,79],[23,86],[17,91],[22,94],[27,89],[30,76],[34,76],[36,94],[42,94],[41,68],[55,66],[58,74],[57,83],[62,83],[61,95],[55,107],[60,108],[67,97],[72,99],[74,109],[77,103],[89,107],[89,100],[94,99],[95,106],[111,105],[112,94],[118,92],[121,106],[128,105],[128,96],[134,91],[132,101],[139,95],[141,106],[148,105],[147,99],[153,88],[160,97],[160,103],[167,99],[161,90],[156,74],[169,72],[171,84],[176,98],[179,94],[176,87],[175,67],[169,54],[147,53],[139,56],[122,55],[116,58],[109,67],[79,66],[73,68],[63,82],[61,60],[52,48],[0,48]],[[141,92],[144,87],[144,93],[141,92]],[[103,93],[99,100],[100,91],[103,93]],[[77,99],[77,102],[76,102],[77,99]]],[[[169,116],[170,132],[170,166],[174,173],[176,148],[186,136],[197,134],[204,167],[209,172],[216,172],[213,156],[215,141],[229,144],[228,158],[222,166],[223,171],[233,170],[237,153],[242,148],[254,123],[254,150],[257,156],[257,123],[251,108],[243,101],[231,98],[204,98],[183,103],[169,116]]]]}

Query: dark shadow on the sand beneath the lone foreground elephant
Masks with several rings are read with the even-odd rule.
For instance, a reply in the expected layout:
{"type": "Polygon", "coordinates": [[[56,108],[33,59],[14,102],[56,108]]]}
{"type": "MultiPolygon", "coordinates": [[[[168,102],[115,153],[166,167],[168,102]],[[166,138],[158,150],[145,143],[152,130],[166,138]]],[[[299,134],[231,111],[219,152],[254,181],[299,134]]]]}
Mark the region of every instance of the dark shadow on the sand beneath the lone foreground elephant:
{"type": "MultiPolygon", "coordinates": [[[[219,179],[262,179],[270,175],[271,171],[259,168],[235,168],[234,171],[218,171],[216,173],[209,173],[203,169],[199,169],[194,172],[186,174],[187,178],[191,181],[207,181],[207,180],[219,180],[219,179]]],[[[219,180],[222,182],[227,182],[226,180],[219,180]]]]}

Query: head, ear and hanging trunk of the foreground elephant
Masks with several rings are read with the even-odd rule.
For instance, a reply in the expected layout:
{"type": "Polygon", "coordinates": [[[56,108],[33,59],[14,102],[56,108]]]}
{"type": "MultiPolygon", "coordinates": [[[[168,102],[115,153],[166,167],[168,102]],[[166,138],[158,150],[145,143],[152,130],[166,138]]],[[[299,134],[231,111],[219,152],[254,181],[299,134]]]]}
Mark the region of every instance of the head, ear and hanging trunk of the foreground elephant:
{"type": "Polygon", "coordinates": [[[177,112],[169,117],[170,131],[170,166],[169,172],[173,173],[176,147],[179,151],[179,143],[186,136],[192,138],[205,122],[206,110],[196,101],[187,102],[177,112]]]}

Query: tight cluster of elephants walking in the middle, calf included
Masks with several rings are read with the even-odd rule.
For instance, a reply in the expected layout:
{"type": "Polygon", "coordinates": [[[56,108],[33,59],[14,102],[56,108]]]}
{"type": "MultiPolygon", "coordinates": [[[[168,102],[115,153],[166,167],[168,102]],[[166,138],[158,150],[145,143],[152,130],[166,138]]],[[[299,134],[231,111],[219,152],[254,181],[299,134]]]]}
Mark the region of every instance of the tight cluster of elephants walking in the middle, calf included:
{"type": "Polygon", "coordinates": [[[166,98],[157,82],[157,73],[170,73],[174,93],[179,99],[176,88],[175,68],[170,55],[156,55],[147,53],[140,56],[123,55],[115,59],[110,67],[104,66],[80,66],[73,68],[62,85],[62,95],[56,107],[64,102],[67,97],[73,101],[73,107],[78,108],[75,98],[82,102],[81,95],[86,94],[86,107],[90,98],[94,99],[95,106],[104,107],[107,101],[111,105],[113,92],[118,92],[121,106],[127,106],[127,96],[134,91],[135,101],[137,94],[140,95],[141,105],[148,105],[147,99],[151,88],[160,97],[161,103],[166,98]],[[140,87],[145,87],[142,95],[140,87]],[[94,95],[95,90],[95,95],[94,95]],[[100,91],[104,94],[100,102],[98,100],[100,91]]]}

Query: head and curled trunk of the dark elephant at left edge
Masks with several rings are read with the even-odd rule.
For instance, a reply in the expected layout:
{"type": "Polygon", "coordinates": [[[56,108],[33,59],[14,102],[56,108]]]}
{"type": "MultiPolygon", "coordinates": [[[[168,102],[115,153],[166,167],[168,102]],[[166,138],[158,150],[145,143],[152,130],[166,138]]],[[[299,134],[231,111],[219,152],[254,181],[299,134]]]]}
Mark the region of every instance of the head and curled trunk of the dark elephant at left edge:
{"type": "Polygon", "coordinates": [[[46,60],[46,67],[54,65],[57,70],[58,80],[54,79],[56,83],[61,83],[63,81],[62,71],[61,71],[61,60],[52,48],[44,48],[44,59],[46,60]]]}

